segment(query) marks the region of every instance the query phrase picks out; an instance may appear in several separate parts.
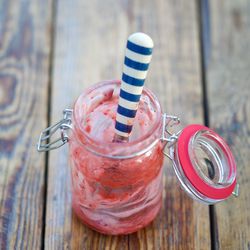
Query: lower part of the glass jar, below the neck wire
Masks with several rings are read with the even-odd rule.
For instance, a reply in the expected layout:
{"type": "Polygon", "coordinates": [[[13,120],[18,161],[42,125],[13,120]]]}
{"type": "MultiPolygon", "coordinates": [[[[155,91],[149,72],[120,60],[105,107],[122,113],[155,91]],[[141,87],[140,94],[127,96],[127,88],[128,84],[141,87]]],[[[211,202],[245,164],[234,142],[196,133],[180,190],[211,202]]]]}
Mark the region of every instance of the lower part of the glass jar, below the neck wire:
{"type": "Polygon", "coordinates": [[[149,224],[162,202],[163,155],[159,142],[131,159],[98,156],[70,141],[73,209],[93,229],[128,234],[149,224]]]}

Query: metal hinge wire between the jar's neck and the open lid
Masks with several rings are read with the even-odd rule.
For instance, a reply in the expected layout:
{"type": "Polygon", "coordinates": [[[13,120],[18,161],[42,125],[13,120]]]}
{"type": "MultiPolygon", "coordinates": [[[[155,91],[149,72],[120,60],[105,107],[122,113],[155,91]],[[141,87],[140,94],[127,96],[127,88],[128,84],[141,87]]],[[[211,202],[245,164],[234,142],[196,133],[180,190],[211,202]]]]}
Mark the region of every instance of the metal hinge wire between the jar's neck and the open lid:
{"type": "Polygon", "coordinates": [[[172,157],[165,151],[165,148],[167,147],[170,149],[174,144],[177,142],[178,137],[182,130],[179,130],[176,133],[173,133],[170,131],[170,128],[173,126],[177,126],[180,124],[180,119],[177,116],[173,115],[162,115],[162,141],[165,141],[166,144],[163,148],[163,154],[167,156],[170,160],[172,160],[172,157]]]}

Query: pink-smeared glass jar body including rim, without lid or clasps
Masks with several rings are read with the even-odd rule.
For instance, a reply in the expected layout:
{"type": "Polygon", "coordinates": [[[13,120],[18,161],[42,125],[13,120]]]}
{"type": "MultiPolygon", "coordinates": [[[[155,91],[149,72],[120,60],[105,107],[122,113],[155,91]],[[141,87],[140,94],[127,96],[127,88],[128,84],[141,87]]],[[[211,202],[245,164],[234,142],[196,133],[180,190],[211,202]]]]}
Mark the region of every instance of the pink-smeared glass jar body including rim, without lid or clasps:
{"type": "Polygon", "coordinates": [[[139,230],[156,217],[162,202],[161,109],[150,91],[144,97],[154,119],[149,121],[153,124],[150,133],[143,138],[105,143],[92,140],[81,127],[88,109],[97,106],[91,100],[101,100],[98,95],[117,84],[101,83],[78,98],[69,140],[73,209],[82,222],[105,234],[139,230]]]}

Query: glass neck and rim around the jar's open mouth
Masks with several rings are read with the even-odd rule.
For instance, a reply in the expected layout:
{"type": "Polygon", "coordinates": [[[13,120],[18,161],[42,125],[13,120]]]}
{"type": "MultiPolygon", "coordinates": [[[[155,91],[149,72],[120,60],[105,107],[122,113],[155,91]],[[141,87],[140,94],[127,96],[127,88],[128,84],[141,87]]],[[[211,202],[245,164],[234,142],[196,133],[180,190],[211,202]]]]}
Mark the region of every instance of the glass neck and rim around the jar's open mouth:
{"type": "Polygon", "coordinates": [[[90,95],[96,96],[98,93],[103,93],[107,88],[117,89],[119,88],[119,85],[120,81],[117,80],[101,82],[79,96],[73,110],[73,130],[71,139],[77,140],[79,144],[94,154],[109,158],[125,159],[139,156],[147,152],[160,141],[162,114],[156,96],[150,90],[144,88],[143,95],[150,101],[155,112],[154,119],[149,121],[151,127],[146,134],[139,136],[134,141],[126,143],[99,141],[96,140],[96,138],[91,137],[86,133],[83,126],[84,118],[88,113],[88,110],[86,109],[86,106],[89,104],[88,97],[90,95]]]}

